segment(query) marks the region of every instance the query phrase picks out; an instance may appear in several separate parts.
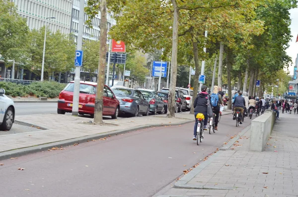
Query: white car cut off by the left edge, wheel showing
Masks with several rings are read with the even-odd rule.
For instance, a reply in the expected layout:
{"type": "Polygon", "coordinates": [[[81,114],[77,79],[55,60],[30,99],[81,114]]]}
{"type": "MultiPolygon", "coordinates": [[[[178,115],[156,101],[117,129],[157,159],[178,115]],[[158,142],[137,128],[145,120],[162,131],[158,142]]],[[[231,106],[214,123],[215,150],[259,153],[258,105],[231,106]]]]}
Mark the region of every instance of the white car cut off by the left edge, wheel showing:
{"type": "Polygon", "coordinates": [[[5,90],[0,88],[0,130],[9,131],[14,122],[13,100],[5,95],[5,90]]]}

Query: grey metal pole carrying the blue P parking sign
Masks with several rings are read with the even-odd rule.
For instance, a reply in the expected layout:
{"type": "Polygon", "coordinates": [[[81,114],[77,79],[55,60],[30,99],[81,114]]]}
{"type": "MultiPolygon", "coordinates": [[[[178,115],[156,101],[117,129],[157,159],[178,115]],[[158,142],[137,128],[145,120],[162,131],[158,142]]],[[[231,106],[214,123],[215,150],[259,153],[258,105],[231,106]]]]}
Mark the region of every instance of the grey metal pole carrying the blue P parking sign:
{"type": "MultiPolygon", "coordinates": [[[[78,14],[78,35],[76,49],[82,50],[83,43],[83,28],[84,28],[84,0],[79,1],[79,14],[78,14]]],[[[74,77],[74,97],[73,97],[73,116],[78,115],[78,103],[79,103],[79,83],[80,83],[80,66],[75,66],[74,77]]]]}

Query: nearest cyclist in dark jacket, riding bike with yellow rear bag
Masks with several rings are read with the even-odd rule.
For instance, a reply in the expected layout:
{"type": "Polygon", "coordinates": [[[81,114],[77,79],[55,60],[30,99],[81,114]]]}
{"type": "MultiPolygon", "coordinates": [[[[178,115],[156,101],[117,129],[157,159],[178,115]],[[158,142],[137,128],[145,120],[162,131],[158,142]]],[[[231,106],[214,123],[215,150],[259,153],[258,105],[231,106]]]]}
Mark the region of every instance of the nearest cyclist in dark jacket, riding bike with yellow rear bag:
{"type": "MultiPolygon", "coordinates": [[[[207,124],[208,124],[208,114],[207,114],[207,104],[208,104],[209,94],[207,93],[207,86],[202,85],[200,94],[197,95],[194,101],[194,112],[195,112],[195,128],[194,128],[194,137],[193,140],[197,140],[197,127],[198,127],[198,120],[196,119],[197,114],[201,113],[204,114],[204,131],[207,131],[207,124]]],[[[210,101],[211,102],[211,101],[210,101]]]]}

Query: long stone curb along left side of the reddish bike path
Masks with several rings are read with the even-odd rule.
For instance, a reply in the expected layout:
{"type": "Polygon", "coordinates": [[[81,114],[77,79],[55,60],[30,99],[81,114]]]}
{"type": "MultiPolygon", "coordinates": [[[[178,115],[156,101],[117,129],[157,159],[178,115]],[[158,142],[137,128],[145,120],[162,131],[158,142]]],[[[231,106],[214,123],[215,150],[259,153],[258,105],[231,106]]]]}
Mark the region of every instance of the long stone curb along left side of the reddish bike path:
{"type": "MultiPolygon", "coordinates": [[[[73,145],[74,143],[83,143],[83,142],[87,142],[87,140],[108,137],[109,135],[113,136],[113,135],[118,135],[118,134],[130,132],[130,131],[147,129],[147,128],[151,128],[151,127],[179,126],[179,125],[185,125],[185,124],[192,123],[192,122],[194,122],[194,120],[189,120],[189,121],[185,121],[183,123],[174,123],[174,124],[168,124],[168,123],[167,124],[157,124],[157,125],[151,124],[151,125],[134,127],[134,128],[127,129],[127,130],[109,131],[109,132],[103,132],[103,133],[99,133],[99,134],[92,134],[92,135],[86,135],[86,136],[82,136],[82,137],[76,137],[76,138],[62,140],[62,141],[55,141],[55,142],[50,142],[50,143],[46,143],[46,144],[29,146],[29,147],[25,147],[25,148],[7,150],[4,152],[0,152],[0,160],[9,159],[11,157],[19,157],[19,156],[26,155],[26,154],[32,154],[32,153],[36,153],[39,151],[48,150],[48,149],[51,149],[52,147],[56,147],[56,146],[69,146],[69,145],[73,145]]],[[[30,124],[30,126],[31,126],[31,124],[30,124]]]]}

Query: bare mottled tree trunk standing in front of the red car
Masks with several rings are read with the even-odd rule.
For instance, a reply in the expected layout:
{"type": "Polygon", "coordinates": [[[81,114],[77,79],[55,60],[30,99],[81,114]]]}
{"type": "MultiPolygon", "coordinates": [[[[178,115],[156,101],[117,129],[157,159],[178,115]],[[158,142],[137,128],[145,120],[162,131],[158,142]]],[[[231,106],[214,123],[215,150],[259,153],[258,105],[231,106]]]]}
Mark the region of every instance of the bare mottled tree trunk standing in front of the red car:
{"type": "Polygon", "coordinates": [[[94,109],[94,123],[103,124],[102,110],[103,110],[103,88],[105,79],[105,65],[107,52],[107,1],[101,0],[100,3],[100,36],[99,36],[99,64],[97,73],[97,92],[94,109]]]}

